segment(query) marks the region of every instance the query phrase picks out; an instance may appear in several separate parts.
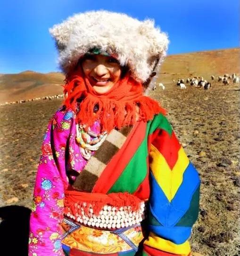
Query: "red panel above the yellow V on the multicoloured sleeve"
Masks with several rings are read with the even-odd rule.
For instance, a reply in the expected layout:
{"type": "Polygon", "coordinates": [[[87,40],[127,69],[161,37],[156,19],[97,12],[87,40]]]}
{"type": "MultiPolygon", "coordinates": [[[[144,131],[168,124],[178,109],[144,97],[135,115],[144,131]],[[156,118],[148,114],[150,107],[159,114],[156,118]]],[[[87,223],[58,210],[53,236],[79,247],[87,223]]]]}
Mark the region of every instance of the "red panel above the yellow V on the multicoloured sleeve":
{"type": "Polygon", "coordinates": [[[152,144],[159,150],[159,152],[164,156],[166,162],[168,163],[171,169],[174,168],[174,165],[178,159],[178,151],[181,148],[181,144],[174,132],[172,136],[168,132],[162,129],[158,130],[158,136],[152,141],[152,144]]]}

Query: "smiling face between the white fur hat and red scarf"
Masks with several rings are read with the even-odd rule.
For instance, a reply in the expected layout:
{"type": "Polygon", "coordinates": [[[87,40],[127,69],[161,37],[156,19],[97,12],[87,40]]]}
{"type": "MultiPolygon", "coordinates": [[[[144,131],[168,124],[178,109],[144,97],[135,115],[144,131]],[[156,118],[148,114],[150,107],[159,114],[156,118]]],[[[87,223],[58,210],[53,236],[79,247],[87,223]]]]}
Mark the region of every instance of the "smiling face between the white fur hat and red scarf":
{"type": "Polygon", "coordinates": [[[122,72],[115,58],[101,54],[85,54],[82,68],[85,77],[99,95],[108,92],[118,82],[122,72]]]}

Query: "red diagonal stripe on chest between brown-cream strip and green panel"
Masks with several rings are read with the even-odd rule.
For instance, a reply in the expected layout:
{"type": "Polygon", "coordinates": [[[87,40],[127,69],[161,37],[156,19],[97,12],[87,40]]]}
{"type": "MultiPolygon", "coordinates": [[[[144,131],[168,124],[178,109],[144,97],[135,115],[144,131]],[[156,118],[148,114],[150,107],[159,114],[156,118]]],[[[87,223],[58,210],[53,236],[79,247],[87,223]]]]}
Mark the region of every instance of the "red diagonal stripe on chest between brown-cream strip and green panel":
{"type": "Polygon", "coordinates": [[[146,136],[147,123],[141,121],[137,122],[128,135],[124,145],[110,160],[106,168],[103,170],[95,186],[93,193],[107,193],[108,190],[114,185],[115,181],[120,177],[124,168],[132,159],[134,153],[141,145],[141,142],[146,136]],[[106,182],[108,181],[108,182],[106,182]]]}

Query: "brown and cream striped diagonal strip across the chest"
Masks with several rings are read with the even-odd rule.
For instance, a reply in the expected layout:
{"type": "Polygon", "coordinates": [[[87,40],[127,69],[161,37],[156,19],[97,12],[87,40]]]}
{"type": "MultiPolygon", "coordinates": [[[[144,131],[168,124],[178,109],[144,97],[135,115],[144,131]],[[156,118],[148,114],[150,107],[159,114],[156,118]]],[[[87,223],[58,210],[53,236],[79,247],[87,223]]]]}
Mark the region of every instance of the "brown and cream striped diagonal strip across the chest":
{"type": "Polygon", "coordinates": [[[76,190],[91,192],[93,186],[102,174],[103,170],[123,146],[127,136],[132,131],[132,126],[123,127],[120,130],[113,129],[102,143],[99,149],[88,160],[84,169],[76,177],[73,187],[76,190]]]}

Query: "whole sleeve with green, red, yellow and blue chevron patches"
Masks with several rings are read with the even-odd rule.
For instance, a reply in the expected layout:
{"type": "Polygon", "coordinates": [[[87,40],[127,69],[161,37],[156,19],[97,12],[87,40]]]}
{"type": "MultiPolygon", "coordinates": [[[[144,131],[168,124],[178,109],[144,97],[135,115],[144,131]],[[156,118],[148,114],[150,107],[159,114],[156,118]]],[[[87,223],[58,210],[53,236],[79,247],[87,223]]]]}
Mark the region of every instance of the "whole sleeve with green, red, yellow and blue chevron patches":
{"type": "Polygon", "coordinates": [[[153,120],[149,139],[149,237],[142,255],[189,256],[188,239],[199,213],[199,174],[164,115],[153,120]]]}

